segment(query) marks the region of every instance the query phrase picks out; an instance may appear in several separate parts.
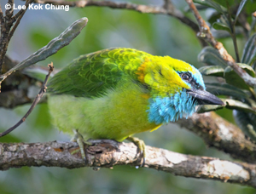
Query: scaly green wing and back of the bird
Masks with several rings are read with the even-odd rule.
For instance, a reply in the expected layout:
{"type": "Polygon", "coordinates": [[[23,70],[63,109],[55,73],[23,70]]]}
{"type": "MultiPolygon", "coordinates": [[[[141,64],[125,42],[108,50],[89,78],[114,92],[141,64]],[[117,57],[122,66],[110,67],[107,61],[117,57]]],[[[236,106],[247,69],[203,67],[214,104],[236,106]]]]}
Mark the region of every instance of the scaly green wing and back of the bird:
{"type": "Polygon", "coordinates": [[[101,96],[120,79],[137,79],[134,71],[146,56],[150,54],[131,48],[109,48],[82,55],[50,79],[48,91],[90,98],[101,96]]]}

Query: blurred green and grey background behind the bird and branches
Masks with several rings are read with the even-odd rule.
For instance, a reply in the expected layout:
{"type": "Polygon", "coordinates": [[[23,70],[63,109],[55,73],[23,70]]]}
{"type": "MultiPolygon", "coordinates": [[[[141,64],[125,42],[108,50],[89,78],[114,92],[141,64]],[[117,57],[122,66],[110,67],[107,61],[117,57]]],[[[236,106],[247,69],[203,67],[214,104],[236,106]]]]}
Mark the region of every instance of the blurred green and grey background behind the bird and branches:
{"type": "MultiPolygon", "coordinates": [[[[129,1],[131,3],[162,5],[163,1],[129,1]]],[[[184,12],[188,7],[184,1],[172,1],[184,12]]],[[[7,0],[1,0],[2,8],[7,0]]],[[[15,0],[15,4],[24,4],[15,0]]],[[[4,9],[3,9],[4,10],[4,9]]],[[[184,13],[191,16],[192,14],[184,13]]],[[[202,13],[204,14],[204,13],[202,13]]],[[[131,10],[88,7],[65,10],[27,10],[15,32],[8,55],[13,60],[23,60],[52,38],[57,37],[73,21],[87,17],[88,25],[67,47],[62,48],[39,66],[53,61],[55,68],[66,66],[80,54],[87,54],[103,48],[137,48],[156,55],[170,55],[185,60],[196,67],[201,45],[194,31],[181,22],[166,15],[140,14],[131,10]]],[[[239,44],[243,44],[239,41],[239,44]]],[[[231,41],[224,46],[234,55],[231,41]]],[[[14,110],[0,108],[0,131],[15,124],[30,105],[14,110]]],[[[218,111],[231,119],[230,111],[218,111]]],[[[175,124],[168,124],[152,133],[138,134],[147,145],[165,148],[185,154],[231,158],[221,151],[208,148],[195,134],[175,124]]],[[[70,137],[58,132],[50,124],[48,107],[38,105],[19,128],[1,142],[45,142],[67,141],[70,137]]],[[[178,177],[148,168],[129,166],[102,168],[12,168],[0,173],[0,193],[254,193],[253,188],[213,180],[196,180],[178,177]]]]}

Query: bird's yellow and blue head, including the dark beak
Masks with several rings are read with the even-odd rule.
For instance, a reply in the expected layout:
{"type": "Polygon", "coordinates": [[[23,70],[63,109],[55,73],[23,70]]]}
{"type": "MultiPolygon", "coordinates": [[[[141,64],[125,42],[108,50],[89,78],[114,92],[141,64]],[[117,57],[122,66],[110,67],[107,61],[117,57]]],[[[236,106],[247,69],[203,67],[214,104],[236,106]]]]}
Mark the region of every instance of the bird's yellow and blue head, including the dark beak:
{"type": "Polygon", "coordinates": [[[151,89],[148,120],[157,124],[189,117],[197,105],[224,105],[206,91],[200,71],[169,56],[145,59],[137,71],[138,79],[151,89]]]}

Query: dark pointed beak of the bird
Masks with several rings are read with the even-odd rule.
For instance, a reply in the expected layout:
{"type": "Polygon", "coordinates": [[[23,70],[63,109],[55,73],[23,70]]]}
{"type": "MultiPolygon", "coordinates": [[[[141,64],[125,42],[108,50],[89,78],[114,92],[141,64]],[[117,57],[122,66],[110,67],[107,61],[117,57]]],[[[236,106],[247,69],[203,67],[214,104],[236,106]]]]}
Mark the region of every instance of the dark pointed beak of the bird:
{"type": "Polygon", "coordinates": [[[198,101],[199,105],[224,105],[224,102],[217,96],[202,89],[190,88],[187,93],[198,101]]]}

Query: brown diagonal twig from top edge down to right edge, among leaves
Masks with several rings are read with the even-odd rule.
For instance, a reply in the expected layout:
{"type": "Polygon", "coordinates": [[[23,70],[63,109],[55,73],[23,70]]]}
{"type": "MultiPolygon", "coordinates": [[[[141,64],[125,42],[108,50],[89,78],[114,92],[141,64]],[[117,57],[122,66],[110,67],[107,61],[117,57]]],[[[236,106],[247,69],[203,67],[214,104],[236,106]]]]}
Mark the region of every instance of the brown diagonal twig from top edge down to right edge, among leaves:
{"type": "Polygon", "coordinates": [[[205,38],[207,42],[212,45],[213,48],[218,49],[219,54],[227,62],[228,66],[231,66],[233,70],[237,73],[237,75],[240,76],[245,81],[245,83],[247,83],[247,85],[255,88],[256,78],[251,77],[247,73],[247,71],[244,71],[243,69],[241,69],[241,67],[236,64],[232,56],[228,54],[223,44],[215,40],[215,38],[212,36],[209,26],[207,26],[207,23],[205,22],[205,20],[202,19],[193,1],[186,0],[186,2],[189,4],[189,8],[192,10],[192,12],[195,14],[195,18],[200,26],[201,33],[199,34],[199,36],[205,38]]]}

